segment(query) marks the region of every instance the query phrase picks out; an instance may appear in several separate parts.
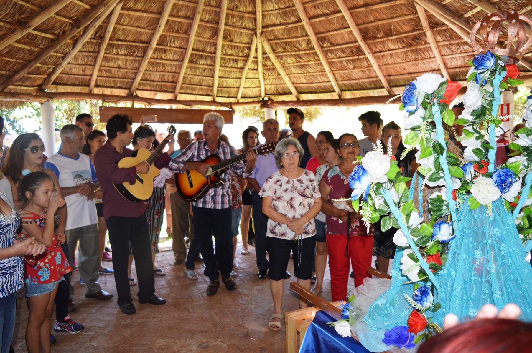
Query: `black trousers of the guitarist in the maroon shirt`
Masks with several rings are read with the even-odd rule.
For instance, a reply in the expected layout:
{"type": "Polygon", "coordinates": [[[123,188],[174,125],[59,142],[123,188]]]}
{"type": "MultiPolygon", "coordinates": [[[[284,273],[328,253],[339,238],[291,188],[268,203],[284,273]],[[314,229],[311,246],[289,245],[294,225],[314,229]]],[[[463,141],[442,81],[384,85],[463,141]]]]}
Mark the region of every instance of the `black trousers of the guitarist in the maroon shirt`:
{"type": "Polygon", "coordinates": [[[146,216],[110,216],[105,220],[113,248],[114,281],[117,285],[118,305],[131,303],[128,281],[129,245],[135,259],[138,280],[138,298],[147,300],[155,294],[152,251],[146,216]]]}

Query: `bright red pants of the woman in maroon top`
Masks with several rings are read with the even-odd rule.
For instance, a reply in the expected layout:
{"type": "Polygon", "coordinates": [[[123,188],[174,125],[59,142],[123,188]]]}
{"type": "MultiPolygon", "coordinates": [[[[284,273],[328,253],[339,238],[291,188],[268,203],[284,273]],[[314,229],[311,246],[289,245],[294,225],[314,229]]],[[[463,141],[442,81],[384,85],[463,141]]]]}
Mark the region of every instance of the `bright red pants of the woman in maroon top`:
{"type": "Polygon", "coordinates": [[[360,286],[364,278],[370,277],[373,236],[350,236],[348,257],[344,256],[347,243],[346,235],[327,234],[327,254],[331,273],[332,301],[345,300],[347,281],[349,280],[349,260],[355,273],[355,287],[360,286]]]}

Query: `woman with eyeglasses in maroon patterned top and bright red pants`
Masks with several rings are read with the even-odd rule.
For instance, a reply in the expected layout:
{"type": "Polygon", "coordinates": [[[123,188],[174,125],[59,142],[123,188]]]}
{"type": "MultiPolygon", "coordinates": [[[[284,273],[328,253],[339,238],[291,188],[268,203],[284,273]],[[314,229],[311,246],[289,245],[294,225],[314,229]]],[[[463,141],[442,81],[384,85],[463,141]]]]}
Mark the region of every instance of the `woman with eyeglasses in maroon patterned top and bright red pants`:
{"type": "Polygon", "coordinates": [[[351,208],[351,200],[332,201],[350,198],[352,190],[347,180],[353,171],[353,162],[360,153],[359,141],[353,134],[340,136],[338,145],[341,161],[327,170],[320,181],[321,211],[326,214],[333,302],[345,300],[347,296],[350,264],[355,274],[355,287],[360,286],[364,278],[370,277],[368,267],[371,266],[373,248],[373,229],[370,228],[368,234],[360,214],[351,208]]]}

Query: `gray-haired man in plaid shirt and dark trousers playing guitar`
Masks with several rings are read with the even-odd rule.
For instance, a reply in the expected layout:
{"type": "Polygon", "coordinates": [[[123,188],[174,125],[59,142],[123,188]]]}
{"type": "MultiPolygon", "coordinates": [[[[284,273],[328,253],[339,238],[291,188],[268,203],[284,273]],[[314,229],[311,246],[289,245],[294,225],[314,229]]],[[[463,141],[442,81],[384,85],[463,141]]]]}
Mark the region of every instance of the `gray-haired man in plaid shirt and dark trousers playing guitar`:
{"type": "MultiPolygon", "coordinates": [[[[220,134],[224,124],[223,117],[218,113],[207,113],[203,118],[204,141],[190,144],[176,158],[172,159],[168,169],[175,173],[195,169],[203,175],[209,173],[209,165],[201,162],[212,153],[218,154],[222,160],[238,156],[237,150],[220,141],[220,134]]],[[[255,167],[255,152],[246,153],[247,166],[240,161],[230,167],[221,178],[225,184],[213,187],[201,199],[192,203],[194,213],[194,234],[200,239],[201,254],[205,263],[204,274],[209,277],[207,295],[215,295],[220,287],[219,272],[222,273],[222,282],[228,290],[235,290],[236,283],[231,278],[233,264],[233,243],[231,236],[231,173],[242,178],[250,175],[255,167]],[[216,255],[212,245],[212,236],[216,242],[216,255]]]]}

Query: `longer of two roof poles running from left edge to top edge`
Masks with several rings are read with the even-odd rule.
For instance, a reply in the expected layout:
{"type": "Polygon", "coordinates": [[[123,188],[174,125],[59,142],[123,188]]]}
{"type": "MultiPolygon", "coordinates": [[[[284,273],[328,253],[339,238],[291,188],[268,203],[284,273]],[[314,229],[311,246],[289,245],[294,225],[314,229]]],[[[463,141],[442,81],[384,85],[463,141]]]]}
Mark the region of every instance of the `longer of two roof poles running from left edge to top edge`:
{"type": "Polygon", "coordinates": [[[117,2],[118,0],[103,0],[98,6],[94,8],[93,11],[91,11],[87,16],[85,16],[83,19],[81,19],[81,21],[78,22],[77,27],[74,27],[72,30],[66,33],[66,35],[57,37],[53,45],[49,46],[48,48],[37,54],[37,56],[32,61],[22,66],[22,68],[18,72],[10,76],[4,76],[2,79],[0,79],[0,81],[2,81],[2,83],[0,83],[0,91],[5,90],[7,87],[10,87],[11,84],[18,81],[22,76],[24,76],[24,74],[26,74],[32,68],[37,66],[37,64],[43,61],[48,55],[52,54],[56,49],[65,44],[66,41],[76,35],[78,31],[85,28],[86,25],[88,25],[95,18],[97,18],[97,16],[101,14],[106,8],[108,8],[109,6],[116,5],[117,2]]]}

